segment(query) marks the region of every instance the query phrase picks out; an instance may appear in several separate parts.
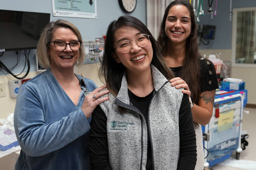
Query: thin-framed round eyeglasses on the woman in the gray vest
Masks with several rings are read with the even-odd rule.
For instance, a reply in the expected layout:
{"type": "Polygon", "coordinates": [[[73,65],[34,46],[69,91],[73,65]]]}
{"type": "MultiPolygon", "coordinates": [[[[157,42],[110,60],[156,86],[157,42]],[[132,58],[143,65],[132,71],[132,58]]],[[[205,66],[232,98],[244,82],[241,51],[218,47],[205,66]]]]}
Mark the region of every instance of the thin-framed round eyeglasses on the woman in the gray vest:
{"type": "MultiPolygon", "coordinates": [[[[132,50],[132,41],[135,41],[139,47],[145,47],[149,44],[149,35],[141,34],[138,37],[136,37],[136,39],[134,40],[120,41],[118,43],[119,46],[117,48],[119,48],[119,50],[122,51],[123,53],[129,53],[132,50]]],[[[116,50],[117,48],[115,48],[114,50],[116,50]]]]}

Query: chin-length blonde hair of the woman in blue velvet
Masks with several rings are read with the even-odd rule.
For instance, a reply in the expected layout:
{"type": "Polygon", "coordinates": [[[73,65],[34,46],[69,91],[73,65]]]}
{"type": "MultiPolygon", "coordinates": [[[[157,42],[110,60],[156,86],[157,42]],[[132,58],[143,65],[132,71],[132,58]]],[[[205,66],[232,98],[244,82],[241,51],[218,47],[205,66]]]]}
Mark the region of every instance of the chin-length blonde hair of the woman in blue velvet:
{"type": "MultiPolygon", "coordinates": [[[[79,32],[79,30],[73,25],[71,22],[68,22],[63,19],[58,19],[57,21],[52,21],[49,24],[47,24],[43,32],[40,36],[40,39],[37,44],[37,58],[39,63],[44,67],[44,68],[50,68],[50,61],[49,61],[49,54],[48,54],[48,49],[49,49],[49,42],[52,40],[53,34],[57,28],[69,28],[72,30],[75,35],[78,38],[78,41],[83,42],[82,36],[79,32]]],[[[78,57],[78,66],[83,65],[85,59],[85,49],[83,46],[83,43],[81,43],[81,47],[79,49],[79,57],[78,57]]]]}

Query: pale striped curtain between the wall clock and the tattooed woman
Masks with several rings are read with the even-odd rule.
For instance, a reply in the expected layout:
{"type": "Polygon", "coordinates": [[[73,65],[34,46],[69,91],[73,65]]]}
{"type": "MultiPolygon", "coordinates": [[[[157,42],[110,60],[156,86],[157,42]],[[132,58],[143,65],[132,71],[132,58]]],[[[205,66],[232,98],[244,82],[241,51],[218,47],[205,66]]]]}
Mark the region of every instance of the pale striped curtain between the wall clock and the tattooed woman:
{"type": "Polygon", "coordinates": [[[147,27],[155,39],[158,37],[165,8],[174,0],[147,0],[147,27]]]}

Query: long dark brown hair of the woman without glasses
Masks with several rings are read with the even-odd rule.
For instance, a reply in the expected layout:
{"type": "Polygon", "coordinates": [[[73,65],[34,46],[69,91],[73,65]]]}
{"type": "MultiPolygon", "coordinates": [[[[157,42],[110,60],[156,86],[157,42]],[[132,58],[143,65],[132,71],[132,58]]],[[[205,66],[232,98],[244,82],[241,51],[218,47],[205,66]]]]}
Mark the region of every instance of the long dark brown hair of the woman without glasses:
{"type": "Polygon", "coordinates": [[[197,44],[197,31],[195,15],[192,5],[187,0],[175,0],[171,2],[165,9],[163,20],[161,23],[161,28],[158,36],[158,42],[162,47],[162,52],[167,50],[168,37],[165,34],[165,21],[169,10],[174,5],[184,5],[187,7],[191,18],[191,32],[186,41],[186,56],[183,61],[183,66],[181,70],[181,78],[186,81],[191,92],[191,99],[195,104],[198,104],[199,94],[200,94],[200,84],[199,84],[199,52],[197,44]]]}

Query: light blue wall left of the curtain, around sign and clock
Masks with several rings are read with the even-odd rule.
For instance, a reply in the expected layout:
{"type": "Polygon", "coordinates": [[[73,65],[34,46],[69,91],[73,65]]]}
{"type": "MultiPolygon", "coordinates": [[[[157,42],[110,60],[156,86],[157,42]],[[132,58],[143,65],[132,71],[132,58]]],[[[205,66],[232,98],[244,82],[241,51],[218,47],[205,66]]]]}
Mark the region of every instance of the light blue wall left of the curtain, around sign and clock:
{"type": "MultiPolygon", "coordinates": [[[[97,0],[97,19],[89,18],[71,18],[71,17],[54,17],[52,12],[52,0],[11,0],[1,1],[0,9],[4,10],[17,10],[29,12],[42,12],[50,13],[51,21],[59,18],[72,22],[81,32],[83,40],[94,40],[98,37],[103,37],[106,34],[108,24],[117,19],[119,16],[127,15],[119,7],[118,0],[97,0]]],[[[129,14],[140,19],[146,25],[146,0],[137,0],[135,10],[129,14]]],[[[0,38],[0,41],[1,40],[0,38]]],[[[35,58],[36,50],[31,50],[29,54],[30,71],[35,71],[35,58]]],[[[1,54],[1,52],[0,52],[1,54]]],[[[7,51],[0,61],[2,61],[8,68],[15,65],[17,60],[16,51],[7,51]]],[[[19,65],[12,71],[13,73],[20,73],[25,64],[25,57],[21,55],[19,65]]],[[[24,72],[27,70],[25,68],[24,72]]],[[[2,71],[0,75],[3,75],[2,71]]]]}

